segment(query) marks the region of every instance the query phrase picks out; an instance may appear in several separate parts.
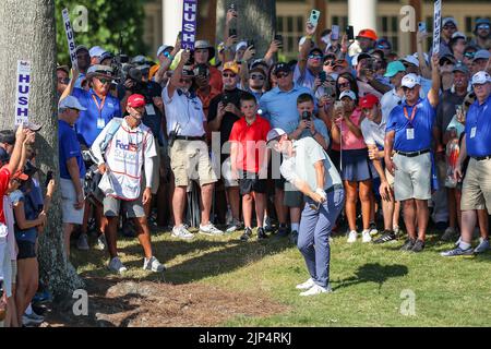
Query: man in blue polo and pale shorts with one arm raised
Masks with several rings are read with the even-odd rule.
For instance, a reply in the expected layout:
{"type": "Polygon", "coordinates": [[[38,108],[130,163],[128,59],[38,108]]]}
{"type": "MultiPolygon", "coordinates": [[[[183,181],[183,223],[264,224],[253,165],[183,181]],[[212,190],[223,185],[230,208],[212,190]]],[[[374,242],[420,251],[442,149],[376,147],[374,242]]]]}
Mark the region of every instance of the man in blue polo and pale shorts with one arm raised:
{"type": "Polygon", "coordinates": [[[404,76],[402,86],[406,100],[392,110],[385,129],[385,165],[395,177],[395,200],[403,202],[404,221],[409,236],[403,251],[420,252],[424,249],[432,182],[430,152],[440,91],[438,55],[432,57],[431,62],[432,87],[427,98],[420,98],[418,75],[411,73],[404,76]],[[396,153],[394,159],[393,151],[396,153]]]}

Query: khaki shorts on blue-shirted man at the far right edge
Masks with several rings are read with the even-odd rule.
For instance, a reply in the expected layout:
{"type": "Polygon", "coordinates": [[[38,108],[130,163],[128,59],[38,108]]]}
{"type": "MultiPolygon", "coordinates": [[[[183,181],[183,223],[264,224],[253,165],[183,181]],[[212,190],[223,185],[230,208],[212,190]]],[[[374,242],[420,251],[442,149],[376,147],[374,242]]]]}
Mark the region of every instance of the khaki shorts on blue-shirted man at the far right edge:
{"type": "Polygon", "coordinates": [[[491,215],[491,159],[470,158],[462,186],[460,209],[486,209],[491,215]]]}

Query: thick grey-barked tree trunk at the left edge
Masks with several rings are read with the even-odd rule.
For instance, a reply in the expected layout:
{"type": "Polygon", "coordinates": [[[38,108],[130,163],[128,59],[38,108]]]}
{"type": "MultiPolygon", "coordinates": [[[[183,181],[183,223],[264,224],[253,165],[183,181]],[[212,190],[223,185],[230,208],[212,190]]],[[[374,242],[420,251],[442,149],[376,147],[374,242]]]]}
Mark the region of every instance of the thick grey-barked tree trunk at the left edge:
{"type": "MultiPolygon", "coordinates": [[[[29,121],[43,124],[35,143],[36,166],[41,169],[39,180],[43,185],[51,169],[59,182],[55,1],[3,0],[0,19],[0,129],[14,128],[17,60],[28,60],[29,121]]],[[[59,197],[57,190],[48,225],[39,237],[39,272],[41,281],[55,296],[71,296],[74,289],[83,287],[83,281],[64,255],[59,197]]]]}

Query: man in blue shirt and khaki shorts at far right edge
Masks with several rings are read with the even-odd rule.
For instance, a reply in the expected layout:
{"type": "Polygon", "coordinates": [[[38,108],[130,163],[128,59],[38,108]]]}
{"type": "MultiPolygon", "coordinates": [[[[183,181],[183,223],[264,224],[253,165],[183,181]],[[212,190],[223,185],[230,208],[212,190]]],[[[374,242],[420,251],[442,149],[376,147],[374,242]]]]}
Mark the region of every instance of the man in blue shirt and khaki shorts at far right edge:
{"type": "Polygon", "coordinates": [[[442,256],[470,255],[489,249],[489,237],[480,238],[472,250],[472,232],[476,227],[476,209],[488,208],[491,214],[491,76],[478,72],[472,76],[477,100],[466,116],[463,146],[455,169],[455,179],[463,178],[463,163],[470,157],[462,188],[462,236],[456,249],[442,252],[442,256]]]}

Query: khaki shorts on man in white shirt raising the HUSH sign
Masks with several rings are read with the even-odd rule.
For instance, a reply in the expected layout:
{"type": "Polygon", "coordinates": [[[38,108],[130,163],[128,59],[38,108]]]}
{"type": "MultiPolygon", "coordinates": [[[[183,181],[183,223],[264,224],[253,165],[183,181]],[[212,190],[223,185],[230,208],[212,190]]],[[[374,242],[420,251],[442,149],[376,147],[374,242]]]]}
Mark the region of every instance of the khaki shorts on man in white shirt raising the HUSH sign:
{"type": "Polygon", "coordinates": [[[176,140],[170,148],[170,168],[176,186],[189,186],[193,180],[200,185],[217,181],[208,146],[203,141],[176,140]]]}

